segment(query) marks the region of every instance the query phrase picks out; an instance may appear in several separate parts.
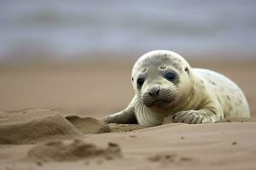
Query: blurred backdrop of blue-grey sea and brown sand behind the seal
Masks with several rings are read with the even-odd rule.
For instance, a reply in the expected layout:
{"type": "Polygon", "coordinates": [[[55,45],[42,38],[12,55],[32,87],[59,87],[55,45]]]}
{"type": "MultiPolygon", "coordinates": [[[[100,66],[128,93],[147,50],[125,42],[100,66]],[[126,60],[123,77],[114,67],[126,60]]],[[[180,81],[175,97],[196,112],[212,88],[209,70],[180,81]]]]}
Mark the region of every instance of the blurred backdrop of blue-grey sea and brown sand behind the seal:
{"type": "Polygon", "coordinates": [[[254,111],[255,8],[253,0],[1,0],[0,111],[119,111],[133,95],[133,63],[153,49],[224,73],[254,111]]]}

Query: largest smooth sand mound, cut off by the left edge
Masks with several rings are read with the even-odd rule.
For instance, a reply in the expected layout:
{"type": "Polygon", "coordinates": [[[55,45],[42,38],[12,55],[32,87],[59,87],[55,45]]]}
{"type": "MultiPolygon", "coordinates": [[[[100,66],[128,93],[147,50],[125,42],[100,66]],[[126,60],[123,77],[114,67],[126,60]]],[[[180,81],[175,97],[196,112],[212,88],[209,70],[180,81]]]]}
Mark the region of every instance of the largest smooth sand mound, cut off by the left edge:
{"type": "Polygon", "coordinates": [[[33,144],[82,136],[57,111],[26,108],[0,112],[0,144],[33,144]]]}

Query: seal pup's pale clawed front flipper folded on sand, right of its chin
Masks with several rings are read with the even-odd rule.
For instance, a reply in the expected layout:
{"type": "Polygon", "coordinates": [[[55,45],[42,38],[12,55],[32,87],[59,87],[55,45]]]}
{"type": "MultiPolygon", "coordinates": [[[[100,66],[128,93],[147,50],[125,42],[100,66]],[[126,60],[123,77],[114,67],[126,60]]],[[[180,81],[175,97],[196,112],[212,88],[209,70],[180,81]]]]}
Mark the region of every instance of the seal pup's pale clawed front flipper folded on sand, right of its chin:
{"type": "Polygon", "coordinates": [[[215,112],[209,109],[180,111],[172,117],[173,122],[185,122],[189,124],[218,122],[215,112]]]}

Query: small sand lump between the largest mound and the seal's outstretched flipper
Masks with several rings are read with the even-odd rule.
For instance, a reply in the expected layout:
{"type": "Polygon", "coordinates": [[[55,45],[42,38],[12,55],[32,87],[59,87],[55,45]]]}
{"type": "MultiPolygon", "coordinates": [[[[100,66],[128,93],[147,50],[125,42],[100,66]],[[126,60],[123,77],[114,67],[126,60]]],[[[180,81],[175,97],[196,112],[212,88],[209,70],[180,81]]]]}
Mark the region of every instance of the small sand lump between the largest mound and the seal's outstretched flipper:
{"type": "Polygon", "coordinates": [[[77,127],[84,134],[109,133],[108,123],[97,120],[93,117],[66,116],[67,121],[77,127]]]}

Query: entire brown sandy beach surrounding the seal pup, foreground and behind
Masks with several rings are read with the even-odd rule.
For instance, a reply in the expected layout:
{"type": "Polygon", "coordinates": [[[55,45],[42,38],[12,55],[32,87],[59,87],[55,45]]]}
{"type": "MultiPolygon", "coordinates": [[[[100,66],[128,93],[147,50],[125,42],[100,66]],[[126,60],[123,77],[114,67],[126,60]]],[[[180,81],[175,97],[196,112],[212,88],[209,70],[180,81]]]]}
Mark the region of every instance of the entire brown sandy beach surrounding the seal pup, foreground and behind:
{"type": "Polygon", "coordinates": [[[197,125],[166,119],[147,128],[107,124],[101,117],[131,99],[129,65],[1,68],[0,170],[255,169],[255,79],[246,74],[255,77],[256,67],[208,66],[241,85],[252,118],[197,125]]]}

